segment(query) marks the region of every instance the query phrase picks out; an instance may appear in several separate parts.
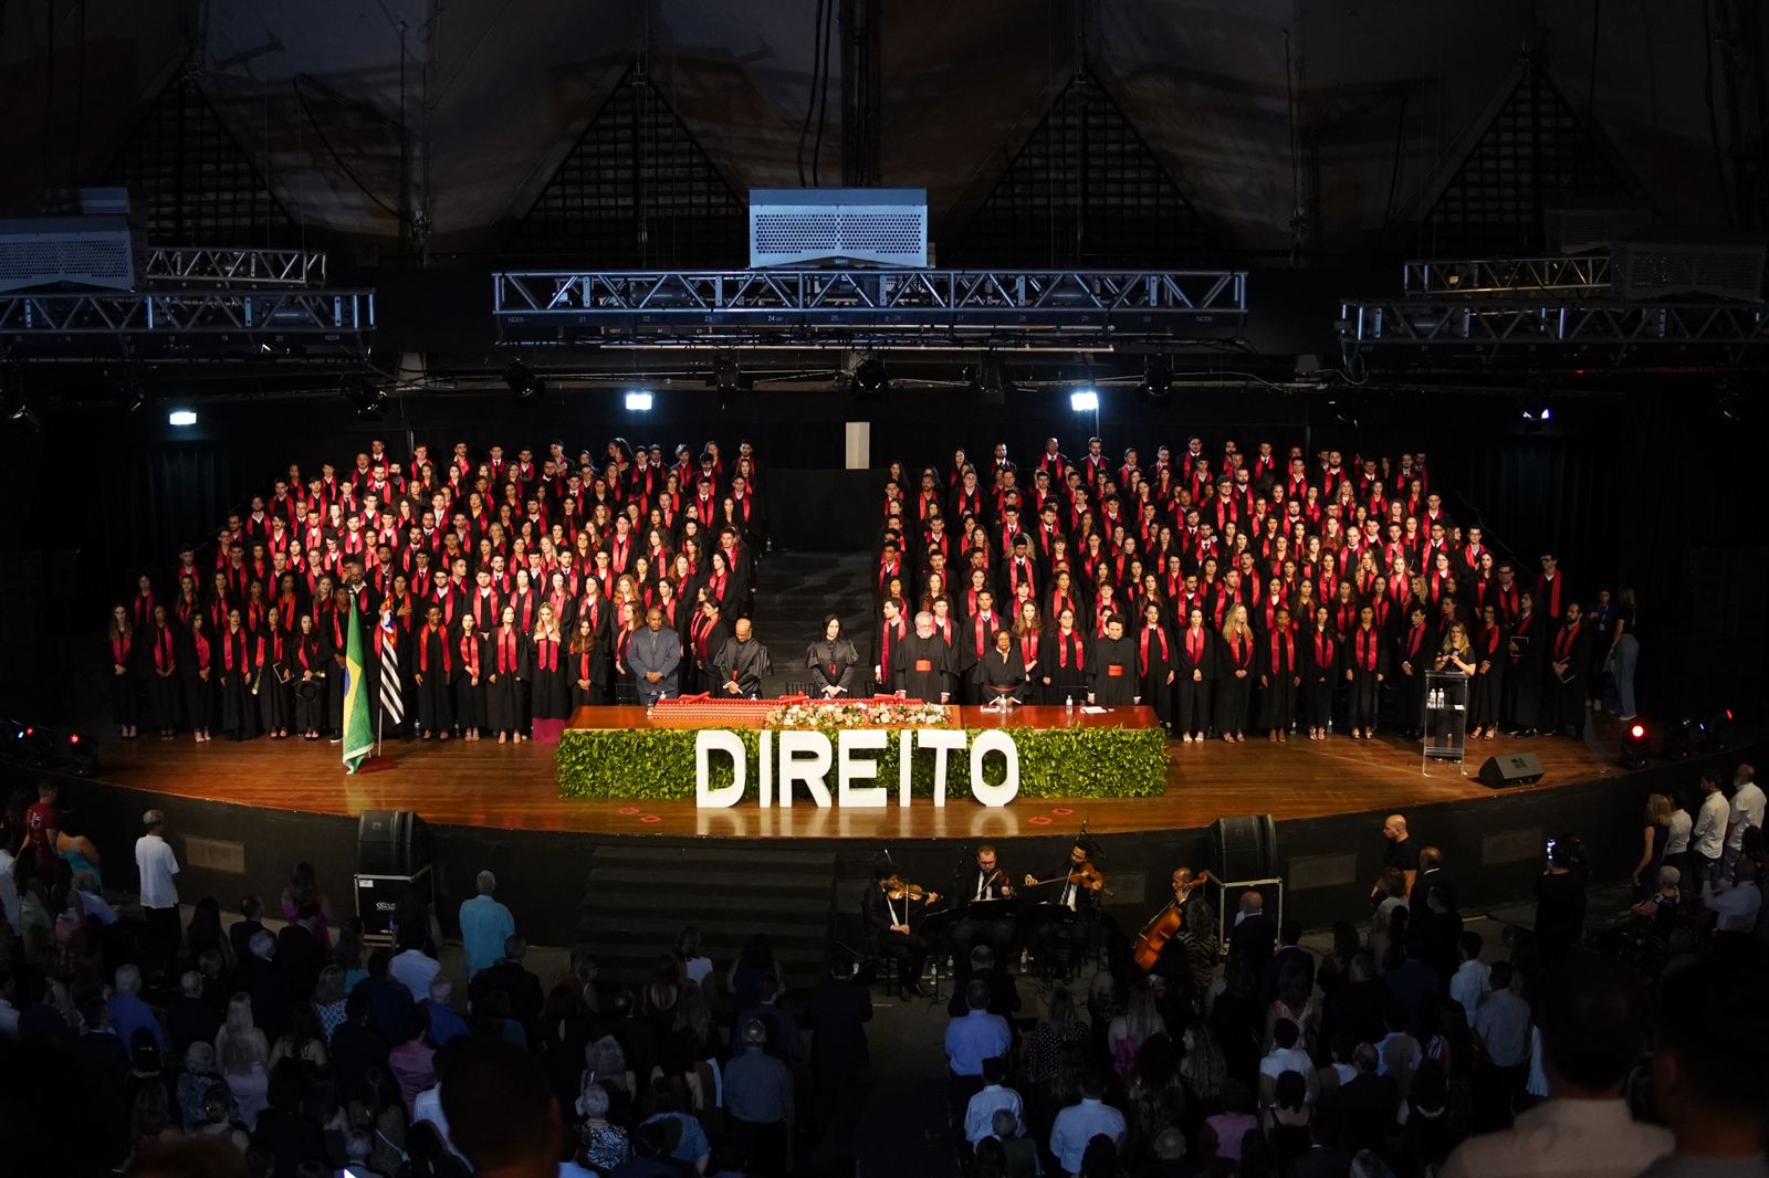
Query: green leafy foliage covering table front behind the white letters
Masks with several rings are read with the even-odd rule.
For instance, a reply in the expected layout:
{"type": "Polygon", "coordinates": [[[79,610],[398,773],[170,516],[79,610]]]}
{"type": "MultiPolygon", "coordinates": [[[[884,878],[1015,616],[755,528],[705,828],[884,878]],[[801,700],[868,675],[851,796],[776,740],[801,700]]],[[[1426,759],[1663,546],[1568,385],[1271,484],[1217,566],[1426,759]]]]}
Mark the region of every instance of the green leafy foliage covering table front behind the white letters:
{"type": "MultiPolygon", "coordinates": [[[[982,729],[969,729],[971,739],[982,729]]],[[[738,729],[748,752],[750,791],[759,778],[757,729],[738,729]]],[[[1168,736],[1150,729],[1007,729],[1019,748],[1021,798],[1153,798],[1168,787],[1168,736]]],[[[835,729],[824,731],[835,745],[835,729]]],[[[612,798],[628,801],[693,801],[695,729],[568,729],[559,734],[557,769],[561,798],[612,798]]],[[[870,757],[877,764],[876,785],[895,796],[899,776],[897,734],[870,757]]],[[[934,794],[934,750],[916,748],[909,789],[916,798],[934,794]]],[[[985,771],[998,780],[989,757],[985,771]]],[[[711,784],[731,784],[731,761],[711,761],[711,784]]],[[[835,789],[835,769],[830,769],[835,789]]],[[[946,798],[971,796],[971,759],[946,757],[946,798]]]]}

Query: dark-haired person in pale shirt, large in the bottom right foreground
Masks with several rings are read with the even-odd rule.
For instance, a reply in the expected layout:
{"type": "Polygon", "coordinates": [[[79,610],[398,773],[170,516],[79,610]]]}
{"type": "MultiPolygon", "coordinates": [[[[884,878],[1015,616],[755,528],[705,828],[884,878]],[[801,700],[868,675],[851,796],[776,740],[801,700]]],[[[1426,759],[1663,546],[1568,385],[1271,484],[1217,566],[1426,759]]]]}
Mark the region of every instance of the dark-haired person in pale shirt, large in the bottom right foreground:
{"type": "Polygon", "coordinates": [[[1633,1178],[1670,1153],[1670,1132],[1636,1123],[1622,1098],[1643,1026],[1636,989],[1612,966],[1564,969],[1543,1014],[1550,1098],[1511,1128],[1465,1141],[1442,1178],[1633,1178]]]}

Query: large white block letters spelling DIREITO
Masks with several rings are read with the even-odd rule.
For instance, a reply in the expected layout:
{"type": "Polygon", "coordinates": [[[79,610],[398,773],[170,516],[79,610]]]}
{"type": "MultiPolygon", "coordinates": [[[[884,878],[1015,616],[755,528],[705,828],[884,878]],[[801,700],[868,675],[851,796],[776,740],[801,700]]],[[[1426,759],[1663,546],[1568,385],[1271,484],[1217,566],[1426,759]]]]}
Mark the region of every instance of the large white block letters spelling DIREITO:
{"type": "MultiPolygon", "coordinates": [[[[934,753],[934,807],[946,805],[946,766],[952,755],[969,752],[971,796],[985,807],[1005,807],[1019,794],[1019,748],[1007,732],[987,729],[971,738],[957,729],[762,729],[757,755],[757,794],[762,808],[791,807],[793,796],[808,798],[817,807],[854,807],[881,810],[890,805],[890,784],[879,782],[877,753],[895,739],[899,750],[897,805],[909,805],[911,753],[934,753]],[[999,753],[1007,771],[996,768],[996,780],[984,775],[989,753],[999,753]],[[830,780],[830,775],[835,780],[830,780]],[[831,792],[833,787],[833,792],[831,792]]],[[[748,752],[743,739],[727,729],[701,729],[693,741],[693,799],[702,810],[724,810],[748,794],[748,752]],[[731,761],[729,785],[711,784],[713,757],[731,761]]]]}

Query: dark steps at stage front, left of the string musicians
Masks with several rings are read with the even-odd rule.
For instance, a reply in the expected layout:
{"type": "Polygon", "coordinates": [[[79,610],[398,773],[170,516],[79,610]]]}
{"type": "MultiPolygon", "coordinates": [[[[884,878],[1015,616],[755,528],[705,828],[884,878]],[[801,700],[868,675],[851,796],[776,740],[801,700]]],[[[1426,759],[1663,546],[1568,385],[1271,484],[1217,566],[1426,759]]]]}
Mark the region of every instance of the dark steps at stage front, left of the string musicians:
{"type": "Polygon", "coordinates": [[[768,934],[793,987],[814,985],[828,952],[837,856],[747,847],[601,845],[591,853],[577,937],[614,985],[644,982],[686,925],[720,975],[768,934]]]}

